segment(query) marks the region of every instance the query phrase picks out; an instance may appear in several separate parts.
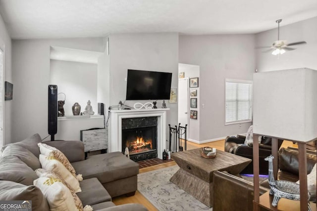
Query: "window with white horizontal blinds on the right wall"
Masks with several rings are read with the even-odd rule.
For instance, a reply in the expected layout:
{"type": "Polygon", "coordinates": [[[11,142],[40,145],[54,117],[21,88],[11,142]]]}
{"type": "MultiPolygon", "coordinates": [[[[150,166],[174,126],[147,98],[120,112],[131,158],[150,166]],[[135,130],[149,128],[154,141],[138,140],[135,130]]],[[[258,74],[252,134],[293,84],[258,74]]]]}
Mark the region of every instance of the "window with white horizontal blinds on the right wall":
{"type": "Polygon", "coordinates": [[[226,79],[225,125],[252,121],[252,81],[226,79]]]}

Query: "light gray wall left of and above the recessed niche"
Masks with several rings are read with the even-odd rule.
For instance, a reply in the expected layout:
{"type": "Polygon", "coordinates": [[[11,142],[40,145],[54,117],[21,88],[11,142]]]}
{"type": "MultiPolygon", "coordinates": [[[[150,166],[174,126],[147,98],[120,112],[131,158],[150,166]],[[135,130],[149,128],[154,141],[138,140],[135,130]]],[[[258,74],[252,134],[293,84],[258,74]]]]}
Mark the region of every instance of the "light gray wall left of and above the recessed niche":
{"type": "MultiPolygon", "coordinates": [[[[50,84],[50,46],[104,52],[103,38],[55,40],[13,40],[12,139],[16,142],[39,133],[48,135],[48,84],[50,84]]],[[[58,131],[57,131],[58,133],[58,131]]]]}

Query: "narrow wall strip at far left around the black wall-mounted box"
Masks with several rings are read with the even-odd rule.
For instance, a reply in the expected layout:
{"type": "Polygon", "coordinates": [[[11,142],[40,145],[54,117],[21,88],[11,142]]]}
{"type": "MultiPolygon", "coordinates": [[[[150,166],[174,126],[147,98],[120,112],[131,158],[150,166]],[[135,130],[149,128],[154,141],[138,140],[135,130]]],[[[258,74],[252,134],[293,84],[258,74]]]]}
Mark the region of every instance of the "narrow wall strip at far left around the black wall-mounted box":
{"type": "MultiPolygon", "coordinates": [[[[0,15],[0,48],[4,51],[4,70],[3,70],[3,83],[4,81],[10,82],[13,84],[13,99],[3,101],[3,144],[7,144],[11,142],[11,128],[12,128],[12,105],[15,102],[16,95],[16,87],[12,82],[12,71],[11,71],[11,38],[10,35],[4,25],[3,19],[0,15]]],[[[1,79],[2,80],[2,79],[1,79]]],[[[4,84],[2,84],[4,87],[4,84]]],[[[4,90],[3,90],[4,93],[4,90]]],[[[3,98],[4,100],[4,98],[3,98]]],[[[14,131],[13,131],[14,132],[14,131]]]]}

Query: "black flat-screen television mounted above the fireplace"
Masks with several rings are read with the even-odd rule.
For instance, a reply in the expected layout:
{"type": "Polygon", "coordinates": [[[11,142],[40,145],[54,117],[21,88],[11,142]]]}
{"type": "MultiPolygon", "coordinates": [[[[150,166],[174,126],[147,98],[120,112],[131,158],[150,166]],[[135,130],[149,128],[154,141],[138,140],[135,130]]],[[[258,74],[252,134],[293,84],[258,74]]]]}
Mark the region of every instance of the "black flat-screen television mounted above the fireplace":
{"type": "Polygon", "coordinates": [[[172,73],[128,70],[126,100],[167,100],[172,73]]]}

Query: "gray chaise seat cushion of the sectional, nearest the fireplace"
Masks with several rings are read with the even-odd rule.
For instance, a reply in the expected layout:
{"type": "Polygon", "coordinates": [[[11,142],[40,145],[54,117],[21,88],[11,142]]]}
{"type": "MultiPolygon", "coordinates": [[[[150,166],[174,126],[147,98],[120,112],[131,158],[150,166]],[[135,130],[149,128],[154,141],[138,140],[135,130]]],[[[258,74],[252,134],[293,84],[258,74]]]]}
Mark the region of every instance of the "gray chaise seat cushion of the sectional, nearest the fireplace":
{"type": "Polygon", "coordinates": [[[84,179],[97,177],[102,184],[139,173],[139,164],[120,152],[94,155],[85,161],[74,162],[72,165],[84,179]]]}

